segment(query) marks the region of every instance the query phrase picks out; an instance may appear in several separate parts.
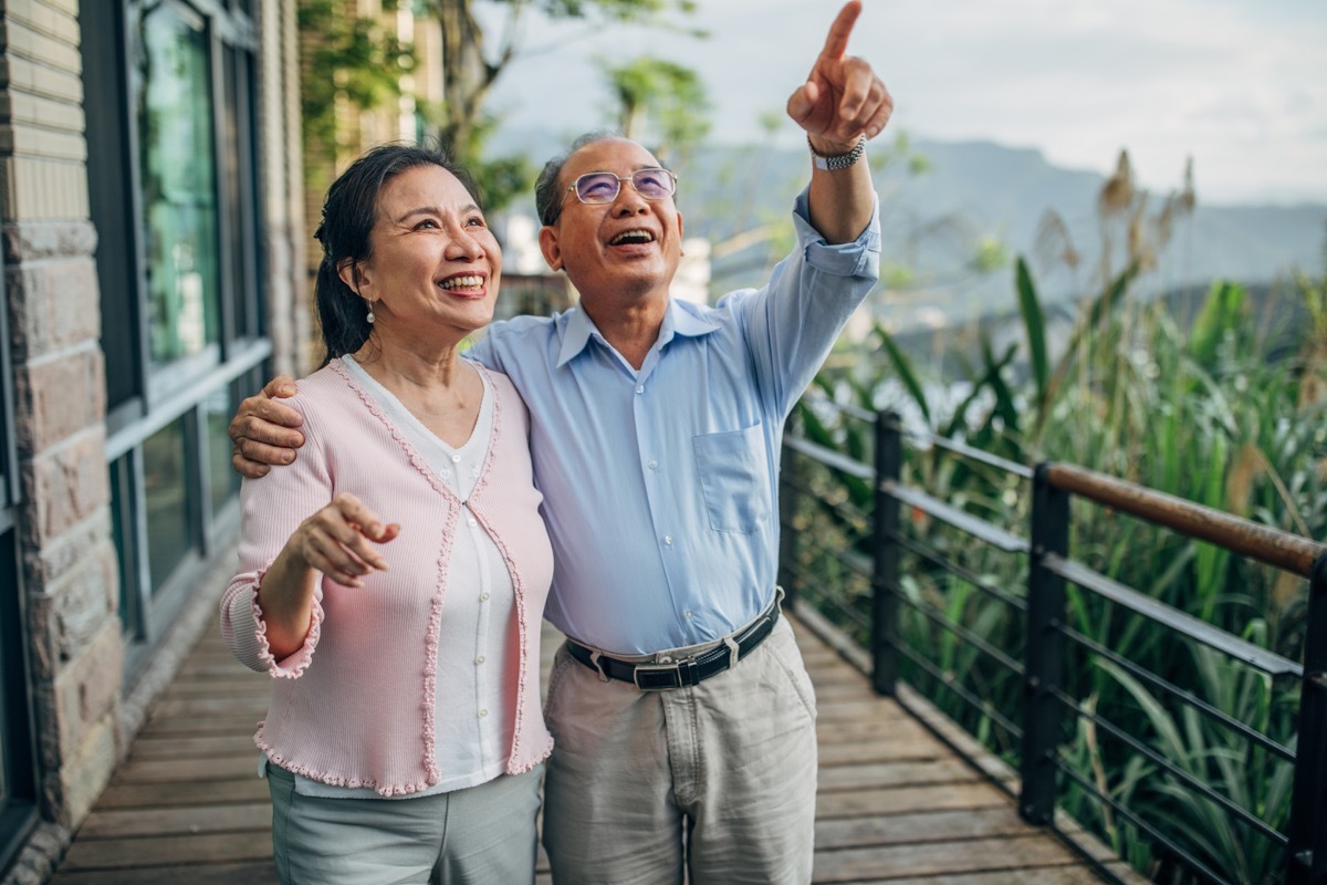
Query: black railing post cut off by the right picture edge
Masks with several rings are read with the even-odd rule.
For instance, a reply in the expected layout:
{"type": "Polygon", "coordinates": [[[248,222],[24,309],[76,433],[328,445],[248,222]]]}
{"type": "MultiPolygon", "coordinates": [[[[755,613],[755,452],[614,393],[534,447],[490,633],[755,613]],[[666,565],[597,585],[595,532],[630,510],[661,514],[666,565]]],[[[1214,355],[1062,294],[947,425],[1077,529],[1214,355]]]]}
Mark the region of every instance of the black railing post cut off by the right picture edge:
{"type": "Polygon", "coordinates": [[[1314,563],[1308,580],[1286,882],[1327,884],[1327,555],[1314,563]]]}

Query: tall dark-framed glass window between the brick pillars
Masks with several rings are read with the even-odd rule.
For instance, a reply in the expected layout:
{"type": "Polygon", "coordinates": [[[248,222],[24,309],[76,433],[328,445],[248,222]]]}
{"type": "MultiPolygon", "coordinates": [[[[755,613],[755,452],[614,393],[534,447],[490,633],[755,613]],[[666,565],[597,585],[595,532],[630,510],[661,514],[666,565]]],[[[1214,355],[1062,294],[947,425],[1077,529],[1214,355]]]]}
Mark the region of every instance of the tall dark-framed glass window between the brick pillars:
{"type": "Polygon", "coordinates": [[[256,4],[80,5],[126,678],[239,525],[226,429],[267,374],[256,4]]]}

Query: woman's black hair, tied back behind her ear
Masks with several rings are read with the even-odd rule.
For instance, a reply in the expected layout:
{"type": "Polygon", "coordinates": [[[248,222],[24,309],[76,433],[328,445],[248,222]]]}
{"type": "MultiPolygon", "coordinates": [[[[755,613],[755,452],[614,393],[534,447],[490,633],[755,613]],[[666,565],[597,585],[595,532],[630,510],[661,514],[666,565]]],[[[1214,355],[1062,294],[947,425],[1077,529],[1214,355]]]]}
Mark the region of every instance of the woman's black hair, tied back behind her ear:
{"type": "Polygon", "coordinates": [[[442,149],[423,145],[378,145],[350,163],[332,182],[322,200],[322,222],[313,238],[322,243],[313,284],[318,321],[322,326],[322,365],[332,358],[356,353],[369,340],[373,324],[369,306],[358,292],[341,280],[337,268],[366,261],[373,255],[370,234],[378,218],[378,196],[393,178],[419,166],[439,166],[464,186],[476,206],[483,206],[479,188],[463,167],[442,149]]]}

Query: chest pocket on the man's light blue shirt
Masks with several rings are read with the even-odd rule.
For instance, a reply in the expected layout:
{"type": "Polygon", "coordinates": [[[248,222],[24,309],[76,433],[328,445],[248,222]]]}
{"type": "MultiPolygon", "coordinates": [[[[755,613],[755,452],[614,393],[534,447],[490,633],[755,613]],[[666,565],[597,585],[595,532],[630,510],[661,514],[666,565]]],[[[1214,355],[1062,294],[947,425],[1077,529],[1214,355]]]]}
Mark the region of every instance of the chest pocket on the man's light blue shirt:
{"type": "Polygon", "coordinates": [[[750,533],[770,519],[768,458],[760,425],[691,437],[710,528],[750,533]]]}

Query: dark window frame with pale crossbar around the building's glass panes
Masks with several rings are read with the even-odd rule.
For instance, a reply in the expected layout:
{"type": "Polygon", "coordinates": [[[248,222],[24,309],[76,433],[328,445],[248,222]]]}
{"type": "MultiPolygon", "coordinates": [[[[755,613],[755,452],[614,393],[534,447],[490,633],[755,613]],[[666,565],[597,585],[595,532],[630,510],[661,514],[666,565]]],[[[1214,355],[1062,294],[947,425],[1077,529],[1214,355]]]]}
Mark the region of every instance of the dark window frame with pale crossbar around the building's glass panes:
{"type": "MultiPolygon", "coordinates": [[[[203,568],[227,545],[239,529],[239,500],[214,510],[208,470],[208,398],[226,390],[235,402],[236,381],[261,382],[269,372],[272,342],[263,321],[264,256],[261,231],[263,203],[259,194],[260,126],[257,118],[259,40],[257,27],[244,4],[232,0],[117,0],[82,4],[84,19],[102,27],[110,38],[92,53],[94,65],[85,62],[85,94],[97,110],[89,113],[89,186],[100,188],[93,200],[93,219],[117,226],[106,240],[125,259],[98,248],[98,280],[102,285],[104,316],[119,312],[119,329],[133,338],[127,344],[107,341],[107,386],[118,385],[118,398],[106,417],[106,468],[114,490],[111,507],[117,516],[117,551],[121,556],[121,617],[126,644],[125,679],[131,685],[153,649],[170,629],[199,588],[203,568]],[[98,9],[92,9],[98,7],[98,9]],[[216,211],[215,243],[218,296],[214,309],[218,338],[199,353],[165,365],[154,365],[149,348],[149,299],[146,211],[138,118],[134,89],[142,84],[130,70],[134,28],[149,7],[170,7],[190,28],[202,34],[207,57],[203,70],[208,80],[204,113],[211,118],[214,154],[212,198],[216,211]],[[98,76],[104,74],[104,76],[98,76]],[[96,135],[114,137],[111,143],[96,135]],[[111,174],[98,175],[98,170],[111,174]],[[101,179],[101,180],[98,180],[101,179]],[[109,183],[105,179],[111,179],[109,183]],[[114,365],[111,365],[114,364],[114,365]],[[187,547],[169,576],[157,576],[153,585],[149,551],[147,490],[145,487],[143,444],[173,422],[184,422],[184,460],[178,482],[187,499],[187,547]]],[[[85,33],[88,33],[85,31],[85,33]]],[[[88,58],[84,41],[85,60],[88,58]]],[[[215,415],[214,415],[215,425],[215,415]]],[[[230,441],[224,441],[230,446],[230,441]]]]}

